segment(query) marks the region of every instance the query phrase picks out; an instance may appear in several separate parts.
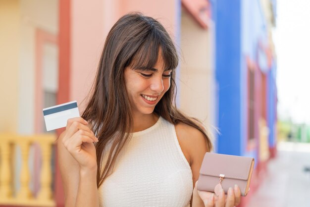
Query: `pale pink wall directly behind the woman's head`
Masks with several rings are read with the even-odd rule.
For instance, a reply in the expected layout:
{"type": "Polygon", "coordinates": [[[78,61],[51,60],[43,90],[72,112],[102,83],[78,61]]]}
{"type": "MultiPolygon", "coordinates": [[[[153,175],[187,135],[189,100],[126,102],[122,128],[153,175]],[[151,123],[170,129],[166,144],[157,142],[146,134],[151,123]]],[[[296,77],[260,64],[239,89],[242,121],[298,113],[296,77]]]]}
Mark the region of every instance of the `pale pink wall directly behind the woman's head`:
{"type": "MultiPolygon", "coordinates": [[[[77,100],[80,112],[94,81],[105,37],[122,15],[141,11],[158,19],[173,39],[178,36],[178,0],[71,0],[70,97],[77,100]]],[[[177,41],[176,41],[177,42],[177,41]]]]}

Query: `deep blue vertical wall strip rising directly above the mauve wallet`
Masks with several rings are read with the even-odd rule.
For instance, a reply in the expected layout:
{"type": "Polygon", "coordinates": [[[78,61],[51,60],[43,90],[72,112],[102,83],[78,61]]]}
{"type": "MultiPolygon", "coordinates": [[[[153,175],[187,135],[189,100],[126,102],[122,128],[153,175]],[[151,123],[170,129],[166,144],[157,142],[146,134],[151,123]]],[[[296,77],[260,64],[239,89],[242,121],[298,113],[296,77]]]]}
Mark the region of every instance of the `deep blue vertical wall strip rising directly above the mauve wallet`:
{"type": "Polygon", "coordinates": [[[217,0],[214,15],[216,27],[216,80],[218,83],[217,152],[240,155],[240,0],[217,0]]]}

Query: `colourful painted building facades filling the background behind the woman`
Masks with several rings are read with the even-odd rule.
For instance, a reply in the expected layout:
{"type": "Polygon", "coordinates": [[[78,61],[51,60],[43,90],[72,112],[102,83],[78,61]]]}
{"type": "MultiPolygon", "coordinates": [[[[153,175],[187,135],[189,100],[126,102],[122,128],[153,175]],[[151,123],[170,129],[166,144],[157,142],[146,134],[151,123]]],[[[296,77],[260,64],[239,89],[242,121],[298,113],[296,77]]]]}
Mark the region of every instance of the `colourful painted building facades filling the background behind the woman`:
{"type": "MultiPolygon", "coordinates": [[[[20,206],[20,198],[28,206],[64,206],[56,149],[41,143],[52,140],[42,137],[42,109],[77,100],[82,112],[104,38],[118,18],[132,11],[158,19],[174,40],[180,53],[176,104],[203,121],[213,134],[214,151],[256,158],[254,193],[258,172],[276,152],[274,2],[0,1],[0,19],[9,19],[0,21],[0,86],[7,97],[0,108],[1,117],[7,117],[0,121],[0,137],[7,145],[0,147],[12,144],[15,149],[0,150],[5,160],[0,162],[5,175],[0,177],[0,206],[20,206]],[[21,145],[21,140],[29,142],[21,145]],[[29,157],[29,166],[22,157],[29,157]],[[52,188],[41,191],[43,184],[52,188]],[[39,200],[31,203],[32,198],[39,200]]],[[[47,136],[55,138],[62,130],[47,136]]]]}

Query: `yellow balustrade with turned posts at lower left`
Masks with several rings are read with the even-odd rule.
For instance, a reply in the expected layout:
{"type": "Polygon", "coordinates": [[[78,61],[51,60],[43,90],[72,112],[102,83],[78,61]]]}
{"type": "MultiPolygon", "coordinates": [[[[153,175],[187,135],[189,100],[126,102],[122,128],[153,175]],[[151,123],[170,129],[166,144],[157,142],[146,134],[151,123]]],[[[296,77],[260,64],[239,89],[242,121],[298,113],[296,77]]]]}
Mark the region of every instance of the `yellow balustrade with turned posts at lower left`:
{"type": "Polygon", "coordinates": [[[52,195],[52,147],[55,135],[19,136],[0,134],[0,206],[33,206],[55,207],[52,195]],[[30,190],[30,169],[28,165],[30,146],[38,143],[41,148],[42,165],[40,169],[40,189],[36,197],[30,190]],[[14,172],[13,159],[15,147],[21,150],[21,169],[14,172]],[[20,174],[20,188],[17,190],[13,185],[13,176],[20,174]]]}

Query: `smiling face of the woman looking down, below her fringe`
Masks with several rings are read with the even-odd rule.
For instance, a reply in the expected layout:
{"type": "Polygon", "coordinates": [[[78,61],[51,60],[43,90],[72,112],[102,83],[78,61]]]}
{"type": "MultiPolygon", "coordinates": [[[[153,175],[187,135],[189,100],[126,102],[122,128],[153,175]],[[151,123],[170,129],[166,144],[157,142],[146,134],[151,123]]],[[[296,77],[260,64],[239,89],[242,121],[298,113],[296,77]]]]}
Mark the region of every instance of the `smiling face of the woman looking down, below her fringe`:
{"type": "Polygon", "coordinates": [[[153,68],[125,68],[125,86],[134,115],[151,114],[154,111],[155,105],[170,88],[171,71],[164,69],[161,55],[153,68]]]}

